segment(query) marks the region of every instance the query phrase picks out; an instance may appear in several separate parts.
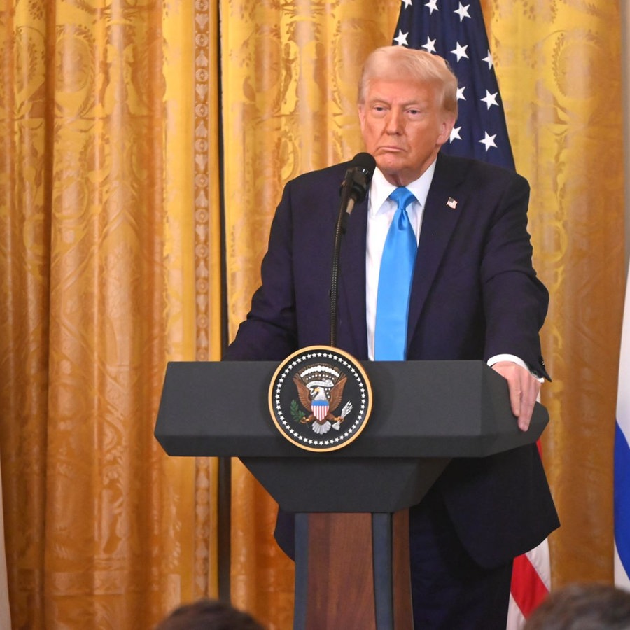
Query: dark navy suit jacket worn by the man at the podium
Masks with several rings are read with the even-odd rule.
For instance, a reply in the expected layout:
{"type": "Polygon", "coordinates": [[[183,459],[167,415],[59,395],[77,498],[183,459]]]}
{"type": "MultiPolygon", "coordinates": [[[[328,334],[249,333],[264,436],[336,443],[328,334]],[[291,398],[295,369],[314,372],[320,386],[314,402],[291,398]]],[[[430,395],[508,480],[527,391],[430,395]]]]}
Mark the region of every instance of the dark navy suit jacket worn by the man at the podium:
{"type": "MultiPolygon", "coordinates": [[[[262,262],[262,286],[225,360],[282,360],[330,343],[330,280],[339,186],[347,164],[290,181],[262,262]]],[[[531,264],[529,187],[513,172],[438,154],[414,270],[408,360],[487,360],[510,353],[547,376],[539,330],[548,294],[531,264]]],[[[337,346],[367,359],[367,200],[340,255],[337,346]]],[[[452,461],[437,490],[482,566],[532,549],[559,525],[535,445],[452,461]]]]}

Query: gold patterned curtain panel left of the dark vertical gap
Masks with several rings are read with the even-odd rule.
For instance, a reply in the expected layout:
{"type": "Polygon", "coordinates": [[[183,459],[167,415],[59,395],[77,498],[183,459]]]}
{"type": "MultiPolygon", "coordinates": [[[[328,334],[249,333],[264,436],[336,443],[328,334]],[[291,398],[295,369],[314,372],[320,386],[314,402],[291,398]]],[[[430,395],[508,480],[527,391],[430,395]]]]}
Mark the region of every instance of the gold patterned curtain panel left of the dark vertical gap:
{"type": "Polygon", "coordinates": [[[150,628],[216,591],[214,465],[167,458],[153,427],[166,361],[220,353],[217,15],[0,3],[15,628],[150,628]]]}

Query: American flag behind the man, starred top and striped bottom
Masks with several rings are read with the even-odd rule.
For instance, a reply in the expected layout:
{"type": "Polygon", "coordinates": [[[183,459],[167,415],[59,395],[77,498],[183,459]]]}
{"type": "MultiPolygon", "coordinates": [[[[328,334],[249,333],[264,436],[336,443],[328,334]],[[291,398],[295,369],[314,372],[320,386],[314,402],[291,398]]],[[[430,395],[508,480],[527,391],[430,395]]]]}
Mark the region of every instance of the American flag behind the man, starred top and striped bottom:
{"type": "MultiPolygon", "coordinates": [[[[514,169],[479,0],[402,0],[393,43],[444,57],[457,76],[458,118],[441,151],[514,169]]],[[[545,540],[514,561],[507,628],[522,627],[550,587],[545,540]]]]}

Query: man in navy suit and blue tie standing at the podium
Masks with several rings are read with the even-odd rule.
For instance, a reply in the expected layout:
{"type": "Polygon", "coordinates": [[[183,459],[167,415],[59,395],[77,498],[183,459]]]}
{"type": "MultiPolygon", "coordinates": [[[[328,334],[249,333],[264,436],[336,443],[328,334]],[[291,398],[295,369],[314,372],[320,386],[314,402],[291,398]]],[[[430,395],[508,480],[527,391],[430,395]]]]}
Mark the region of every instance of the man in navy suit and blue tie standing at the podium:
{"type": "MultiPolygon", "coordinates": [[[[457,79],[437,55],[372,52],[358,116],[376,169],[341,242],[336,345],[358,360],[485,360],[507,380],[514,422],[527,430],[548,378],[539,339],[548,293],[531,262],[528,183],[440,153],[457,117],[457,79]]],[[[262,285],[225,359],[282,360],[330,343],[339,186],[351,168],[286,185],[262,285]]],[[[504,630],[512,559],[557,526],[535,445],[451,461],[409,510],[415,627],[504,630]]]]}

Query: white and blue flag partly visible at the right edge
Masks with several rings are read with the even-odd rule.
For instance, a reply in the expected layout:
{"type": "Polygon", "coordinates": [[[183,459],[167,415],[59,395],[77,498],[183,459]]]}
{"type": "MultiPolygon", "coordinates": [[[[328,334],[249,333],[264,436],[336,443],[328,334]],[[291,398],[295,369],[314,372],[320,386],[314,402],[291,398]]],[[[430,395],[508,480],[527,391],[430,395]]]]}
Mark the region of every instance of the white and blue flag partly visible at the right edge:
{"type": "Polygon", "coordinates": [[[615,585],[630,590],[630,272],[626,286],[615,427],[615,585]]]}

